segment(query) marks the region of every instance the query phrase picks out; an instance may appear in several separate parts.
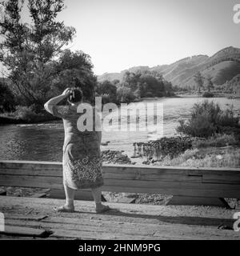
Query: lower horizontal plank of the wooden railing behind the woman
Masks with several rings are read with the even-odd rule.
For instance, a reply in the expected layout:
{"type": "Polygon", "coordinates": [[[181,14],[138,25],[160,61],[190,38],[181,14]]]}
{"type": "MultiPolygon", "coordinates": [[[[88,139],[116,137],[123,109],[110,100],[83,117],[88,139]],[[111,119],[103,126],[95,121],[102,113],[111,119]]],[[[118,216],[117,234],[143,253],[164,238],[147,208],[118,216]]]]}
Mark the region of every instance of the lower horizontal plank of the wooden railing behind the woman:
{"type": "MultiPolygon", "coordinates": [[[[139,180],[105,179],[103,191],[173,194],[186,196],[240,198],[240,186],[236,184],[212,184],[196,182],[152,182],[139,180]]],[[[43,176],[1,175],[0,186],[26,186],[62,189],[62,178],[43,176]]]]}

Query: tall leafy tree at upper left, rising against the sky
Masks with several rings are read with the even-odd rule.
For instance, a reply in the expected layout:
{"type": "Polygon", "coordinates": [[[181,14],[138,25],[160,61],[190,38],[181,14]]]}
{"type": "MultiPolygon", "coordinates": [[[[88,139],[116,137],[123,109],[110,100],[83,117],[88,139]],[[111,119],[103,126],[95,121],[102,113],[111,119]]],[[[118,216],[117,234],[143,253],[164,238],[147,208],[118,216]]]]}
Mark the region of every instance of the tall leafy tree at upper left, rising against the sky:
{"type": "Polygon", "coordinates": [[[2,1],[0,61],[26,105],[42,104],[52,86],[56,58],[74,38],[73,27],[57,22],[63,0],[28,0],[30,23],[21,21],[24,0],[2,1]]]}

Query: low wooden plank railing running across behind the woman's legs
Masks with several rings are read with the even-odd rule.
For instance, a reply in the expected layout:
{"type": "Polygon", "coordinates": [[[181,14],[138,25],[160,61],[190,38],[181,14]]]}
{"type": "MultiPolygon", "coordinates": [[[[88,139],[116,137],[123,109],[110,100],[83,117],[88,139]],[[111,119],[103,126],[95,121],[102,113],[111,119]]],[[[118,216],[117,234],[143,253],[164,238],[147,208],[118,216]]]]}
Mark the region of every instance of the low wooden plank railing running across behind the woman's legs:
{"type": "MultiPolygon", "coordinates": [[[[104,165],[103,191],[174,195],[173,204],[227,206],[240,198],[239,168],[104,165]]],[[[0,161],[0,186],[62,190],[61,162],[0,161]]]]}

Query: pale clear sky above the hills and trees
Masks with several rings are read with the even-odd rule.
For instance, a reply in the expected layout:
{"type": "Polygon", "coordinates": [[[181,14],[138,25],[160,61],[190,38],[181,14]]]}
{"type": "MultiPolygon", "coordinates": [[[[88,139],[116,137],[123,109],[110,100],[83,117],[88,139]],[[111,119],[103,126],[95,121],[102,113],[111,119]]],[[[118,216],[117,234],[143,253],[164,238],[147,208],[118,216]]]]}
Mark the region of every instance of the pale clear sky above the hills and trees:
{"type": "Polygon", "coordinates": [[[77,30],[71,50],[90,54],[94,73],[170,64],[240,48],[240,0],[66,0],[58,20],[77,30]]]}

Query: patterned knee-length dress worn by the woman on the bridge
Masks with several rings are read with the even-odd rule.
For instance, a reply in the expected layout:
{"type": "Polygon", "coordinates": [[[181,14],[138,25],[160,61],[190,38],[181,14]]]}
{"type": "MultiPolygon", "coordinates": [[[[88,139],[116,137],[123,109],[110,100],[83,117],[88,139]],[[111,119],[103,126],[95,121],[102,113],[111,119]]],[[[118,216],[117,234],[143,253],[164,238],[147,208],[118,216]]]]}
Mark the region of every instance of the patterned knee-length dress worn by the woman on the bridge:
{"type": "MultiPolygon", "coordinates": [[[[101,138],[96,131],[78,130],[76,106],[54,106],[53,114],[62,118],[65,139],[63,145],[63,183],[77,190],[96,188],[103,185],[101,138]]],[[[95,110],[93,111],[93,126],[95,110]]]]}

